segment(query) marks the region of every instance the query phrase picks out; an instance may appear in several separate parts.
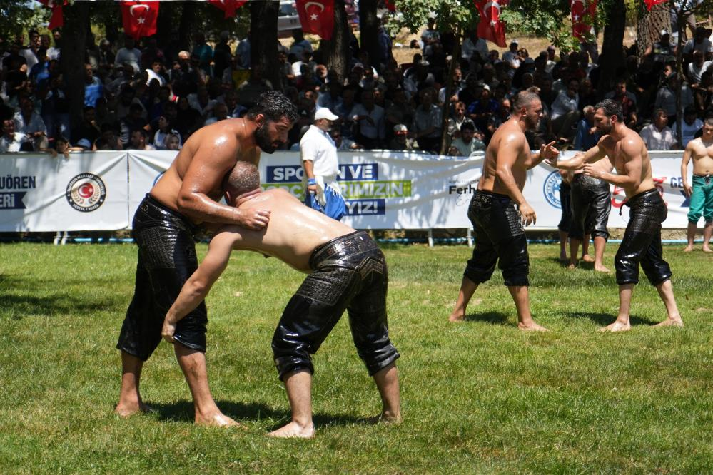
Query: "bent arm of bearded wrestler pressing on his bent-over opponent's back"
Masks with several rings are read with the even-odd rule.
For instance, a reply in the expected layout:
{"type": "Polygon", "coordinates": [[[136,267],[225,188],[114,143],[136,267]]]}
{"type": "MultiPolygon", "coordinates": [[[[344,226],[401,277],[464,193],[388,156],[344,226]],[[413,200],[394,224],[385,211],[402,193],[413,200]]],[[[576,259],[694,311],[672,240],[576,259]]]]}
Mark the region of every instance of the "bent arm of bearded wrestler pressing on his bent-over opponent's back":
{"type": "MultiPolygon", "coordinates": [[[[200,145],[183,176],[178,191],[178,210],[196,221],[237,224],[248,229],[261,229],[270,219],[267,210],[243,211],[221,205],[208,193],[221,188],[226,173],[235,165],[236,141],[218,136],[213,143],[200,145]]],[[[246,161],[258,164],[259,152],[251,153],[246,161]]]]}

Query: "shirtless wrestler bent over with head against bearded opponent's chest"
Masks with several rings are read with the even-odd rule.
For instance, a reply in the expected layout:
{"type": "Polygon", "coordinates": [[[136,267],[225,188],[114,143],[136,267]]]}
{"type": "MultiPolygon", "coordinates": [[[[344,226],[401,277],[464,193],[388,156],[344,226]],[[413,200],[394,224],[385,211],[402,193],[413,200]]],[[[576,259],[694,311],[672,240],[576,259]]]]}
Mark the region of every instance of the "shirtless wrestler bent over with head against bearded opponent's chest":
{"type": "Polygon", "coordinates": [[[386,320],[388,275],[384,255],[364,232],[308,208],[285,190],[261,192],[257,168],[238,163],[226,186],[228,203],[238,209],[266,209],[270,222],[261,230],[225,226],[211,240],[208,254],[188,279],[163,322],[163,337],[176,338],[184,315],[202,302],[228,265],[232,250],[277,257],[309,274],[288,303],[273,335],[273,354],[285,382],[292,420],[270,436],[314,436],[312,373],[314,354],[344,310],[357,352],[373,376],[383,402],[380,419],[400,421],[399,357],[389,340],[386,320]],[[247,192],[247,193],[246,193],[247,192]]]}

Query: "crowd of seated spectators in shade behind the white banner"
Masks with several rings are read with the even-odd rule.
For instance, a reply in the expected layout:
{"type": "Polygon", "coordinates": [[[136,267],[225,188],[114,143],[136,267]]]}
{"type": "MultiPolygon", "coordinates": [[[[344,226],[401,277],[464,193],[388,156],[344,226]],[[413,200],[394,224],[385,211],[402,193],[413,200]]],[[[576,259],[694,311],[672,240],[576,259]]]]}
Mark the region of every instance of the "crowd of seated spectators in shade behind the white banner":
{"type": "MultiPolygon", "coordinates": [[[[471,32],[452,58],[455,36],[439,33],[435,19],[411,44],[413,61],[399,64],[392,39],[381,28],[378,55],[371,58],[350,41],[348,75],[338,80],[323,54],[300,30],[290,47],[278,44],[280,88],[298,107],[287,148],[298,148],[301,134],[318,108],[339,120],[330,134],[339,150],[423,150],[438,153],[447,128],[447,153],[467,156],[485,150],[492,133],[510,116],[518,91],[542,99],[544,118],[528,132],[533,149],[557,141],[560,148],[585,150],[598,139],[592,106],[601,98],[622,104],[627,126],[639,131],[649,150],[682,149],[713,116],[713,46],[710,29],[699,26],[683,46],[683,76],[675,73],[676,48],[668,31],[639,55],[626,48],[626,63],[611,91],[597,90],[600,64],[590,50],[560,52],[547,47],[530,56],[516,40],[508,51],[490,50],[471,32]],[[642,56],[639,61],[638,57],[642,56]],[[455,61],[455,88],[446,93],[455,61]],[[681,86],[683,111],[677,114],[681,86]],[[443,104],[447,118],[443,118],[443,104]],[[676,122],[682,121],[681,136],[676,122]]],[[[84,65],[81,126],[70,128],[69,104],[59,69],[61,31],[0,42],[0,152],[24,150],[178,150],[202,126],[243,116],[261,93],[275,88],[260,66],[250,63],[248,37],[231,46],[223,31],[211,44],[193,37],[191,51],[177,38],[158,45],[130,37],[115,45],[90,36],[84,65]]]]}

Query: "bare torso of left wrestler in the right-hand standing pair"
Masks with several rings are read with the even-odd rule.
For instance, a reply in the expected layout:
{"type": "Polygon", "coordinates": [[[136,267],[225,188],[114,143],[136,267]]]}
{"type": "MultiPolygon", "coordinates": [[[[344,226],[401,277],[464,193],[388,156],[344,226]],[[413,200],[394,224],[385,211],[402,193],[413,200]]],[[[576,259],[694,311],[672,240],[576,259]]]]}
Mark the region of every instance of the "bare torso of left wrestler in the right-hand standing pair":
{"type": "Polygon", "coordinates": [[[482,163],[482,175],[477,189],[482,191],[490,191],[492,193],[500,193],[502,195],[509,194],[507,188],[500,183],[497,178],[497,155],[500,150],[510,149],[513,153],[517,153],[517,160],[510,168],[512,178],[515,178],[517,188],[525,187],[525,178],[527,178],[527,162],[530,160],[530,147],[527,145],[527,138],[522,129],[517,125],[517,121],[509,120],[502,124],[490,138],[490,143],[485,150],[485,160],[482,163]]]}

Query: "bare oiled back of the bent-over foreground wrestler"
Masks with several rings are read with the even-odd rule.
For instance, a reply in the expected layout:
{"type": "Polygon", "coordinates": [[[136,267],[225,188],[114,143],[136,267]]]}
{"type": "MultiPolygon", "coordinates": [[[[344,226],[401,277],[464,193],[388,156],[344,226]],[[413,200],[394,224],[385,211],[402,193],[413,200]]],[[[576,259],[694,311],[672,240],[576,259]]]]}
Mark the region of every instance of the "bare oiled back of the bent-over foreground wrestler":
{"type": "Polygon", "coordinates": [[[270,222],[259,231],[223,226],[213,240],[231,240],[235,250],[253,250],[277,257],[300,272],[311,271],[309,260],[315,247],[354,232],[348,225],[305,206],[285,190],[263,191],[238,208],[270,210],[270,222]]]}

